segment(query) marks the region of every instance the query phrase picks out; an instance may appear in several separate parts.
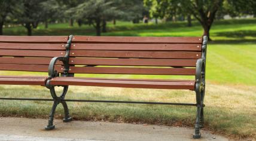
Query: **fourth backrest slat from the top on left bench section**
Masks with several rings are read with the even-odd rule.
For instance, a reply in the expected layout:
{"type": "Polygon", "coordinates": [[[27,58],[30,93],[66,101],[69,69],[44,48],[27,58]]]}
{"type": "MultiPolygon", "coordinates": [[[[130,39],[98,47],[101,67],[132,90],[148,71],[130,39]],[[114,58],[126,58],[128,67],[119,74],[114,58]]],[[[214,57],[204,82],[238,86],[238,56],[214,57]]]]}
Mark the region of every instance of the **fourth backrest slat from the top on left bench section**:
{"type": "MultiPolygon", "coordinates": [[[[0,64],[28,64],[28,65],[49,65],[53,58],[38,58],[38,57],[0,57],[0,64]]],[[[57,62],[56,65],[63,65],[62,62],[57,62]]]]}

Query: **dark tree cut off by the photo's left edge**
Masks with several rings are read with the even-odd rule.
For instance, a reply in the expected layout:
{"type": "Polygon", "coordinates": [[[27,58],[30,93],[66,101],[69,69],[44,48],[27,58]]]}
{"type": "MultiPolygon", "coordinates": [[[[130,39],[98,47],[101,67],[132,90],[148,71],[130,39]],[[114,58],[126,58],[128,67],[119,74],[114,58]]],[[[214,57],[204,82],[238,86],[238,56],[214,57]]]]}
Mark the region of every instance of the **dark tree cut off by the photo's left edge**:
{"type": "Polygon", "coordinates": [[[14,7],[16,6],[15,2],[16,1],[14,0],[0,1],[0,35],[2,35],[2,28],[4,26],[7,16],[9,16],[12,13],[14,7]]]}

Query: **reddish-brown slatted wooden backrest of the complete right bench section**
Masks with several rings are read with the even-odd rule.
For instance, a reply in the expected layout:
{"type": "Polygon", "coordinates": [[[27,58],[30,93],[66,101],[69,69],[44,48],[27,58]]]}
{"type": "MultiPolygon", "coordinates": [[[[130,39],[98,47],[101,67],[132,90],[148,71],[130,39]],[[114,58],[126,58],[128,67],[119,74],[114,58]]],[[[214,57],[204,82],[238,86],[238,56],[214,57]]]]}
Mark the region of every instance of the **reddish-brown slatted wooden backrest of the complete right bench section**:
{"type": "Polygon", "coordinates": [[[202,40],[202,37],[73,36],[69,73],[196,75],[202,40]]]}

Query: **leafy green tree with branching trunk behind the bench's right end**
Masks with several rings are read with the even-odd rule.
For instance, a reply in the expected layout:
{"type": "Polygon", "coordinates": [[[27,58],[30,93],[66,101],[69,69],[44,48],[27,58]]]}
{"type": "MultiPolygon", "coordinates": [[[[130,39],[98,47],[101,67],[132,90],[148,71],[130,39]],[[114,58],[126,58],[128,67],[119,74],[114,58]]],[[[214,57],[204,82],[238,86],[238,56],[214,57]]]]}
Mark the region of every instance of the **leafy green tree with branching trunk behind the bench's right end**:
{"type": "MultiPolygon", "coordinates": [[[[208,36],[208,38],[215,14],[223,5],[223,0],[144,0],[144,2],[148,1],[155,5],[151,6],[151,9],[153,7],[154,10],[154,7],[158,7],[159,11],[157,12],[166,19],[171,18],[175,20],[176,14],[186,14],[189,26],[191,25],[190,15],[192,14],[202,25],[204,29],[203,35],[208,36]]],[[[209,40],[211,39],[209,38],[209,40]]]]}

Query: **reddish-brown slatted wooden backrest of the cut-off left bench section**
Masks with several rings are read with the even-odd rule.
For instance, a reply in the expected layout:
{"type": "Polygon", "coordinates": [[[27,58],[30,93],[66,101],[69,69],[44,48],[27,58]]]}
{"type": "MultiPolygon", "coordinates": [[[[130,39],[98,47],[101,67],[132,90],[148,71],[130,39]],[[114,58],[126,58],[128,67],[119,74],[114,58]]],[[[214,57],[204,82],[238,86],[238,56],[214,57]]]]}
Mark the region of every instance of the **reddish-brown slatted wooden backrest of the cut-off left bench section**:
{"type": "MultiPolygon", "coordinates": [[[[0,36],[0,70],[48,72],[50,60],[65,56],[68,36],[0,36]]],[[[62,63],[57,69],[61,71],[62,63]]]]}

